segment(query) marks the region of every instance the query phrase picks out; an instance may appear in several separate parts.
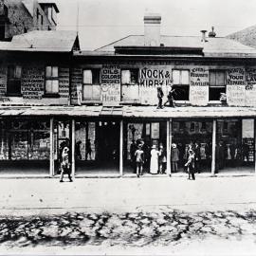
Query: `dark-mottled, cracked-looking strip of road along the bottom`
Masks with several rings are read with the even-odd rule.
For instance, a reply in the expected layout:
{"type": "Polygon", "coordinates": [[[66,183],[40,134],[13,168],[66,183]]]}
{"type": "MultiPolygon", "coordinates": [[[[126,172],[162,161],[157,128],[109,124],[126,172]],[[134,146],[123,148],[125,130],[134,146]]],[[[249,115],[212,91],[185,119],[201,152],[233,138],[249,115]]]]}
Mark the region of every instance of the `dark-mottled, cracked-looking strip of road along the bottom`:
{"type": "MultiPolygon", "coordinates": [[[[65,213],[37,217],[1,217],[3,247],[176,246],[209,237],[241,241],[256,235],[256,211],[65,213]]],[[[256,236],[255,236],[256,237],[256,236]]]]}

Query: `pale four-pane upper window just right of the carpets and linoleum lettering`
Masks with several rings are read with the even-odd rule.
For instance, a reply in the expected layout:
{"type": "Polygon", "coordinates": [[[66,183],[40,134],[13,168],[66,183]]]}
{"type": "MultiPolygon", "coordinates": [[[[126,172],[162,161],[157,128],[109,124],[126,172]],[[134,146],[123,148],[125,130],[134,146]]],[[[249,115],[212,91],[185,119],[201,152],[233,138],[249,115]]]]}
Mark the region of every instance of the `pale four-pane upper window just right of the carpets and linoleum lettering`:
{"type": "Polygon", "coordinates": [[[58,66],[46,66],[46,95],[59,93],[59,68],[58,66]]]}

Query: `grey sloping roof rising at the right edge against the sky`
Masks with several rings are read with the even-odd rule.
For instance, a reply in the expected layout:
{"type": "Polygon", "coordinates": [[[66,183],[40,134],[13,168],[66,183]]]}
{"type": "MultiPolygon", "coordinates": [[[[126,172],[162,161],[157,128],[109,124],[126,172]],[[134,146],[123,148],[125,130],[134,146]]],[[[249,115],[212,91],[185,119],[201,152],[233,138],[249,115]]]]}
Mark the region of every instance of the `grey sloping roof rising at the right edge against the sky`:
{"type": "Polygon", "coordinates": [[[256,48],[256,25],[229,34],[227,38],[240,42],[246,46],[256,48]]]}

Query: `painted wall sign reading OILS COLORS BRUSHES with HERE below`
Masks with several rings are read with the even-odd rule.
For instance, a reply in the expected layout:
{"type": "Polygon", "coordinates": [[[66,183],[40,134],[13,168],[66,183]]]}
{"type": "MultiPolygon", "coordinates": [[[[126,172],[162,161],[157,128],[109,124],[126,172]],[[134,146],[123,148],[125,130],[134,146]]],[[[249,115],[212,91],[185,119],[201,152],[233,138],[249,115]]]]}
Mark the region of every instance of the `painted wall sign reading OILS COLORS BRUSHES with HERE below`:
{"type": "Polygon", "coordinates": [[[120,68],[118,65],[103,65],[101,69],[101,101],[103,105],[119,105],[120,68]]]}

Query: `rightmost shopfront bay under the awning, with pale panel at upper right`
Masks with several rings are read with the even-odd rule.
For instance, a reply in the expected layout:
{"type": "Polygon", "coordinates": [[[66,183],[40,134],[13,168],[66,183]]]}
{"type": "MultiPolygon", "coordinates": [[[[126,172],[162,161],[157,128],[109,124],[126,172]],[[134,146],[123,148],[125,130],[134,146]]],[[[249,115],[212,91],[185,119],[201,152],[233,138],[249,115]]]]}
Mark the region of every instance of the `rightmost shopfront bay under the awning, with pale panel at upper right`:
{"type": "Polygon", "coordinates": [[[254,119],[218,119],[216,173],[254,173],[254,119]]]}

